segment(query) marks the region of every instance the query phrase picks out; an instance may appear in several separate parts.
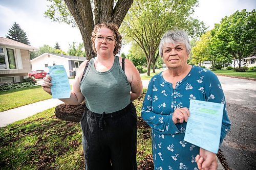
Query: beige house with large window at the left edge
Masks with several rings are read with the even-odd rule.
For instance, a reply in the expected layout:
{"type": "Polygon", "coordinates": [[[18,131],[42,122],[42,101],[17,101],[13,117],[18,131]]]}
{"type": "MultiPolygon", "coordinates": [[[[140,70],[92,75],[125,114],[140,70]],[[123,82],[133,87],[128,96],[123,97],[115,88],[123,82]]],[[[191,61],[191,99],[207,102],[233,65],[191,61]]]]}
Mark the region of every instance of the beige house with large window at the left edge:
{"type": "Polygon", "coordinates": [[[30,52],[38,48],[0,37],[0,85],[23,82],[31,72],[30,52]]]}

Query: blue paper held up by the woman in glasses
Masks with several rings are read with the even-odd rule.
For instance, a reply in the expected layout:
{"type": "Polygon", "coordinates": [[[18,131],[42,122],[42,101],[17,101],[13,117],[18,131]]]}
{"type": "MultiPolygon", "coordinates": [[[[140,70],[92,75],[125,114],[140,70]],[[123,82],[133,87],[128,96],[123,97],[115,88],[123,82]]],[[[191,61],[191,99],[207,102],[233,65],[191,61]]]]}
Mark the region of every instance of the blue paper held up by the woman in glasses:
{"type": "Polygon", "coordinates": [[[70,98],[70,84],[67,72],[63,65],[49,66],[50,76],[52,78],[52,98],[66,99],[70,98]]]}

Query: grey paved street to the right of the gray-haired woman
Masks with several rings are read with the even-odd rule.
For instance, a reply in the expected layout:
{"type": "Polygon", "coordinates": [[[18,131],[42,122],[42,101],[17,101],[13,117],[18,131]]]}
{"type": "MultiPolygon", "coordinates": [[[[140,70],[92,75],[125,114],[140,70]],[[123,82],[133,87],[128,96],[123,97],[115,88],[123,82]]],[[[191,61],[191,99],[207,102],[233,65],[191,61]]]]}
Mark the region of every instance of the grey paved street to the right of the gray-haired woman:
{"type": "Polygon", "coordinates": [[[218,78],[232,124],[220,148],[222,155],[232,170],[256,169],[256,81],[218,78]]]}

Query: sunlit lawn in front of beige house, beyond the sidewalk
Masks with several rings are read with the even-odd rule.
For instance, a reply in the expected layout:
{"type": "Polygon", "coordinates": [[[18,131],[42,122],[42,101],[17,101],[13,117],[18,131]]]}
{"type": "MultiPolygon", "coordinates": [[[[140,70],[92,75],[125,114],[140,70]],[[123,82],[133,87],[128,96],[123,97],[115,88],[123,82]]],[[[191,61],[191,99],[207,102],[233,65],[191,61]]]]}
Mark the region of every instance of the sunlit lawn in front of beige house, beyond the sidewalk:
{"type": "Polygon", "coordinates": [[[19,106],[50,99],[52,96],[41,86],[32,86],[0,92],[0,112],[19,106]]]}

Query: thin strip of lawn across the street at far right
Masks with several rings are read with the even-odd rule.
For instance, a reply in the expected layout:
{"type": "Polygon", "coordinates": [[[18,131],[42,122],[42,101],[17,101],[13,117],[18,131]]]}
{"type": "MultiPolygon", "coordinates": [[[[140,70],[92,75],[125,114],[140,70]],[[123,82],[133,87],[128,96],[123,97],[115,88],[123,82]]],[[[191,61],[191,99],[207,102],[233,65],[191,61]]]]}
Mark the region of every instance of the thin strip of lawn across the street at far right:
{"type": "Polygon", "coordinates": [[[238,77],[246,77],[246,78],[254,78],[256,79],[256,71],[253,70],[248,70],[246,72],[236,72],[234,70],[226,70],[226,69],[221,69],[221,70],[216,70],[213,71],[215,74],[219,75],[226,75],[226,76],[238,76],[238,77]]]}

